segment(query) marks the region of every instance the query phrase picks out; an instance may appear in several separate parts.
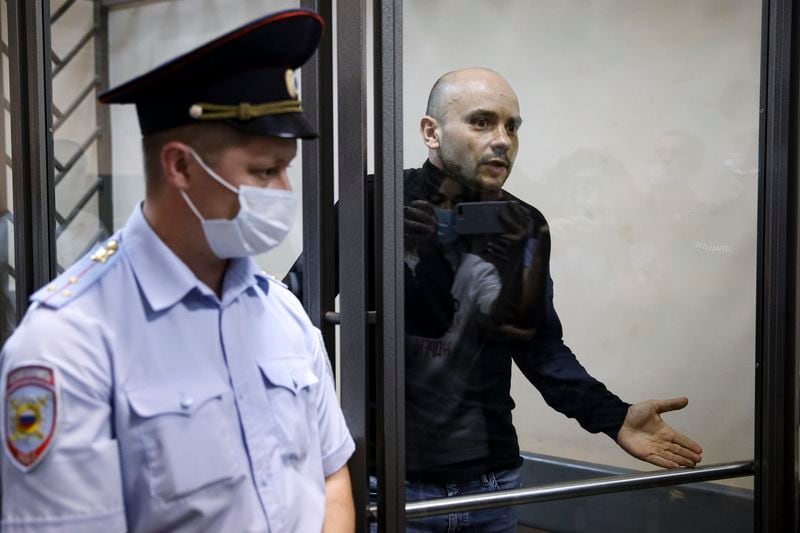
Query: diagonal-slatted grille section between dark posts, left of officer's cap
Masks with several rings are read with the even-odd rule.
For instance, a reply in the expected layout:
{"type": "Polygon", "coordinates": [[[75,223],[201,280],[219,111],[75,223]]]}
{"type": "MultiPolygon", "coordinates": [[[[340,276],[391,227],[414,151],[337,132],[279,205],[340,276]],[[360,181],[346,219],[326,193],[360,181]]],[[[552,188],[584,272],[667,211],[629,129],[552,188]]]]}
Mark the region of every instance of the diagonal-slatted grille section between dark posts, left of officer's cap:
{"type": "MultiPolygon", "coordinates": [[[[53,155],[59,272],[112,231],[110,183],[99,170],[110,149],[96,97],[100,11],[92,2],[51,0],[53,155]]],[[[106,127],[107,128],[107,127],[106,127]]]]}

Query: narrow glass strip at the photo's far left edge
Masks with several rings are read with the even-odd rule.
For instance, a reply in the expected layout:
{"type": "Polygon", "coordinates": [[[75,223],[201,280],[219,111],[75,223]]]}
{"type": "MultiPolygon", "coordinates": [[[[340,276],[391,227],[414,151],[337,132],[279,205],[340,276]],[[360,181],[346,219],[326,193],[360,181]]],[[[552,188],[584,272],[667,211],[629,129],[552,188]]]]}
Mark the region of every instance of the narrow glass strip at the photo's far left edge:
{"type": "Polygon", "coordinates": [[[0,343],[16,326],[16,285],[14,283],[14,207],[13,176],[11,170],[11,91],[8,63],[8,4],[0,3],[0,145],[3,161],[0,163],[0,343]]]}

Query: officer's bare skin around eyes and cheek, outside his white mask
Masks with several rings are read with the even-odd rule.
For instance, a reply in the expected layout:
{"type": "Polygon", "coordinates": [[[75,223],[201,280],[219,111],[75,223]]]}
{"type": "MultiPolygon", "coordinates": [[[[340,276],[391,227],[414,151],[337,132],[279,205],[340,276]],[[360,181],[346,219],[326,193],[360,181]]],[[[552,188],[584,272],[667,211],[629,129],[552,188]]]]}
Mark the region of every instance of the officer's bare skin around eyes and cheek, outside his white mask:
{"type": "MultiPolygon", "coordinates": [[[[297,154],[295,139],[252,136],[247,142],[227,148],[213,161],[211,168],[234,187],[249,185],[264,189],[291,190],[287,170],[297,154]]],[[[208,176],[196,162],[192,165],[195,179],[191,194],[204,218],[232,219],[239,212],[239,201],[208,176]]]]}

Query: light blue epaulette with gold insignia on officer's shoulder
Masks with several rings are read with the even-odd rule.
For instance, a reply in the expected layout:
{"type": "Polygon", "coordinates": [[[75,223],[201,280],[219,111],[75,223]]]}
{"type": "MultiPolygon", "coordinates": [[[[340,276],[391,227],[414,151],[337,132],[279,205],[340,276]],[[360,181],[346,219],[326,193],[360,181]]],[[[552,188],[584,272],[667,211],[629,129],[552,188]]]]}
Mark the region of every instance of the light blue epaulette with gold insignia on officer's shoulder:
{"type": "Polygon", "coordinates": [[[31,301],[56,309],[73,301],[109,271],[109,267],[120,256],[119,247],[117,234],[33,293],[31,301]]]}

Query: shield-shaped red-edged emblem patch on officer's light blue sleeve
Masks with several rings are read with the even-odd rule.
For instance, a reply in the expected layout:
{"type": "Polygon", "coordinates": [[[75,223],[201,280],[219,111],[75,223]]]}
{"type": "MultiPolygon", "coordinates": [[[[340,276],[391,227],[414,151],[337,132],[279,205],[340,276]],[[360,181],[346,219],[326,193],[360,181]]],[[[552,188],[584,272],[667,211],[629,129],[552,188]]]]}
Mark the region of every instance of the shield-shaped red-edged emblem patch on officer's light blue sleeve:
{"type": "Polygon", "coordinates": [[[28,365],[6,377],[6,453],[23,472],[35,467],[53,444],[58,422],[58,383],[53,368],[28,365]]]}

